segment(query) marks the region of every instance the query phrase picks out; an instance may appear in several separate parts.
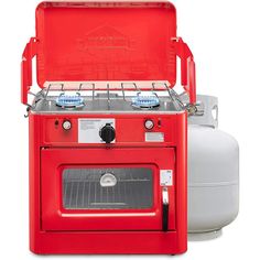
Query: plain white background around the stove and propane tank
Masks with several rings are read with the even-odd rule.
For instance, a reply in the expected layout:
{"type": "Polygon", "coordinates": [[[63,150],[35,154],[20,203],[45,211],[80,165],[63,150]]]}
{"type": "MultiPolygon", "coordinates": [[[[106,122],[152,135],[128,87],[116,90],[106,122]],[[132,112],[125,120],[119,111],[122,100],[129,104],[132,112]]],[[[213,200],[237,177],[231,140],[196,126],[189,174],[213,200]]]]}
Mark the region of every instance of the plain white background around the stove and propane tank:
{"type": "MultiPolygon", "coordinates": [[[[197,93],[219,97],[219,128],[239,141],[241,184],[239,216],[224,229],[223,237],[189,242],[188,251],[175,259],[259,259],[260,3],[258,0],[174,2],[178,35],[189,44],[196,58],[197,93]]],[[[28,120],[23,118],[25,107],[20,104],[20,59],[26,41],[34,35],[36,3],[6,0],[0,6],[0,259],[39,258],[28,249],[28,120]]],[[[47,259],[61,258],[86,256],[47,259]]],[[[120,258],[124,256],[117,257],[120,258]]]]}

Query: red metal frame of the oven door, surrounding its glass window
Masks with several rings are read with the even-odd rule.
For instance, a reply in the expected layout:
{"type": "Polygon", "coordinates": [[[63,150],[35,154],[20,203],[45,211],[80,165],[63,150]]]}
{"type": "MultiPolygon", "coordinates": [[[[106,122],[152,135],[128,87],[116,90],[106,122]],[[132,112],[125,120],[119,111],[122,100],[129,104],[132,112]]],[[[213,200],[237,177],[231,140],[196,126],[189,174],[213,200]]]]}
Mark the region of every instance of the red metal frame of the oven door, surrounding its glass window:
{"type": "MultiPolygon", "coordinates": [[[[44,149],[42,165],[43,230],[161,230],[162,187],[160,169],[174,172],[174,149],[44,149]],[[166,159],[166,160],[165,160],[166,159]],[[115,164],[116,160],[116,164],[115,164]],[[151,167],[153,207],[151,209],[64,209],[62,206],[63,169],[76,167],[151,167]],[[62,169],[61,169],[62,166],[62,169]]],[[[175,187],[169,187],[170,223],[175,227],[175,187]]]]}

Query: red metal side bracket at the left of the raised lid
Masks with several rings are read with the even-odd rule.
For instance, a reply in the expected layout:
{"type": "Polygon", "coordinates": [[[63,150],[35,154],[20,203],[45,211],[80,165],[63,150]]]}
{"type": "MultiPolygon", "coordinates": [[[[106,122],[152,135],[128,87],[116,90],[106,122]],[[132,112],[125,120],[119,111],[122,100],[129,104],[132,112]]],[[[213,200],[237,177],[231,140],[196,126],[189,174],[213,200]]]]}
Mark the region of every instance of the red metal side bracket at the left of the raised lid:
{"type": "Polygon", "coordinates": [[[31,37],[26,44],[21,63],[21,102],[28,105],[28,93],[32,86],[32,58],[36,54],[36,39],[31,37]]]}

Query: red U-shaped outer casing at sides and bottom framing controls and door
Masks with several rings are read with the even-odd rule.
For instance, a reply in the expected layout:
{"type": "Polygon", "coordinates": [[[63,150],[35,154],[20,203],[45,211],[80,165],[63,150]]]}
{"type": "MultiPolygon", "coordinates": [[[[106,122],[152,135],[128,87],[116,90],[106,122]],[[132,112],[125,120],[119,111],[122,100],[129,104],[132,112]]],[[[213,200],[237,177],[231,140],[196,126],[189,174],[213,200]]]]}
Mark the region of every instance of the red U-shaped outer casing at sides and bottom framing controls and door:
{"type": "MultiPolygon", "coordinates": [[[[174,231],[44,231],[41,225],[41,145],[45,117],[30,113],[30,249],[35,253],[182,253],[187,249],[186,115],[174,115],[174,231]]],[[[172,129],[173,130],[173,129],[172,129]]],[[[67,144],[69,145],[69,144],[67,144]]],[[[74,144],[71,144],[71,148],[74,144]]],[[[158,153],[160,154],[160,152],[158,153]]],[[[127,158],[127,156],[126,156],[127,158]]],[[[100,162],[99,162],[100,163],[100,162]]],[[[45,183],[46,192],[51,182],[45,183]]]]}

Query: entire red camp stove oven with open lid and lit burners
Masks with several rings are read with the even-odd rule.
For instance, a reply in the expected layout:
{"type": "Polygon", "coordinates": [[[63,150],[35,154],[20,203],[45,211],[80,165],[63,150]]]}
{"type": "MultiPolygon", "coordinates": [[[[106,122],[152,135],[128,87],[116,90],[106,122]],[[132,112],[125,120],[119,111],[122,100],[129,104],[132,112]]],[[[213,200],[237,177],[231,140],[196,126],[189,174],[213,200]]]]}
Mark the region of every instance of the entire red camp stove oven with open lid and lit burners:
{"type": "Polygon", "coordinates": [[[40,3],[22,59],[30,249],[185,252],[195,96],[195,64],[172,3],[40,3]],[[34,56],[40,90],[29,102],[34,56]],[[173,90],[176,57],[186,104],[173,90]]]}

